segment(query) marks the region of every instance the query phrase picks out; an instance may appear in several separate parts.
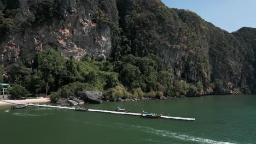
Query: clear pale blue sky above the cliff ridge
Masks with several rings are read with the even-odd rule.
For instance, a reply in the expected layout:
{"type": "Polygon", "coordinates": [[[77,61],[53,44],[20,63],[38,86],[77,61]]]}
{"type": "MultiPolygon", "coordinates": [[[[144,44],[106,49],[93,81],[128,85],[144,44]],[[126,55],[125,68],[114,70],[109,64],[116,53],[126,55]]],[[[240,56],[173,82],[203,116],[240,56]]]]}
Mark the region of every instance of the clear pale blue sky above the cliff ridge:
{"type": "Polygon", "coordinates": [[[256,28],[256,0],[162,0],[169,8],[188,9],[213,25],[234,32],[256,28]]]}

